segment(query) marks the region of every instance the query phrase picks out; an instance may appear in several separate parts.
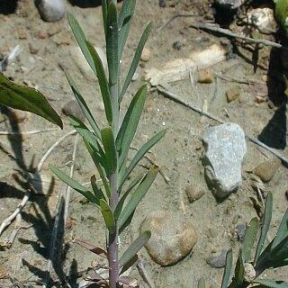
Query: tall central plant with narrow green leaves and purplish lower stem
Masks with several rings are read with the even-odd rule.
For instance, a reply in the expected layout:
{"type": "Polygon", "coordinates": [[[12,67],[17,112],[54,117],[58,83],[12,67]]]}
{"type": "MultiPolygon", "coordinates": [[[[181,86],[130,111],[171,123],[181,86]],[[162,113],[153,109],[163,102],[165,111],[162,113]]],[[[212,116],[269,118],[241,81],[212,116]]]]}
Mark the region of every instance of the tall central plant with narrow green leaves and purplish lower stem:
{"type": "Polygon", "coordinates": [[[135,55],[131,60],[130,69],[126,73],[125,79],[122,80],[120,75],[121,57],[130,31],[135,2],[135,0],[124,0],[121,5],[121,11],[118,13],[117,1],[102,1],[108,76],[105,75],[99,55],[94,46],[85,39],[84,31],[81,30],[76,18],[72,14],[67,14],[76,41],[94,75],[98,77],[107,125],[103,128],[99,127],[76,83],[65,71],[67,81],[75,94],[77,102],[85,113],[85,118],[89,122],[91,129],[86,127],[76,117],[69,116],[69,121],[83,137],[85,147],[94,161],[98,175],[91,177],[92,189],[89,190],[57,167],[50,166],[58,178],[77,192],[82,193],[89,202],[94,203],[95,209],[99,209],[102,212],[107,229],[107,250],[103,248],[98,250],[99,253],[107,257],[109,279],[104,282],[104,285],[111,288],[121,287],[122,284],[125,284],[127,277],[121,277],[121,275],[135,263],[137,252],[150,237],[150,231],[145,231],[121,257],[118,255],[119,236],[130,224],[139,202],[148,192],[149,187],[156,178],[158,168],[157,166],[151,166],[146,175],[132,179],[129,184],[127,180],[141,158],[166,133],[166,130],[157,132],[139,148],[139,151],[130,162],[128,161],[130,144],[139,124],[140,115],[148,93],[148,85],[142,85],[133,96],[123,121],[120,123],[121,100],[130,85],[131,78],[139,64],[141,52],[151,31],[151,24],[148,24],[139,40],[135,55]],[[102,185],[98,184],[97,180],[101,180],[102,185]]]}

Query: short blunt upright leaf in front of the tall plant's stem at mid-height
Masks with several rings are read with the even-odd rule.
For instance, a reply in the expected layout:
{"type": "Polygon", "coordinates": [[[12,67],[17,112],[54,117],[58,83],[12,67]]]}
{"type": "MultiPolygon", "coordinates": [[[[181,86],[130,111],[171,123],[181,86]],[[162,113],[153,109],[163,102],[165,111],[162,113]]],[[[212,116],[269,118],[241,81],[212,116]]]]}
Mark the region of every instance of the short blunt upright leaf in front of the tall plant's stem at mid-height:
{"type": "MultiPolygon", "coordinates": [[[[105,151],[106,163],[110,175],[117,169],[117,152],[115,148],[115,141],[113,137],[112,128],[105,128],[101,130],[101,137],[103,141],[103,148],[105,151]]],[[[109,175],[108,175],[109,176],[109,175]]]]}

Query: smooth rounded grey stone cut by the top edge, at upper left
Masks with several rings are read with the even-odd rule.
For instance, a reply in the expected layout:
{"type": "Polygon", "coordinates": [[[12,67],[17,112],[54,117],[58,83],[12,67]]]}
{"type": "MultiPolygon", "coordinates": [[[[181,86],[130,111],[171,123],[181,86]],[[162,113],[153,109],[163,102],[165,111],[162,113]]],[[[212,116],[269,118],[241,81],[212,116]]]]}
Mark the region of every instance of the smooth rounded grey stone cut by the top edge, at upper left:
{"type": "Polygon", "coordinates": [[[35,4],[44,21],[57,22],[66,14],[64,0],[36,0],[35,4]]]}

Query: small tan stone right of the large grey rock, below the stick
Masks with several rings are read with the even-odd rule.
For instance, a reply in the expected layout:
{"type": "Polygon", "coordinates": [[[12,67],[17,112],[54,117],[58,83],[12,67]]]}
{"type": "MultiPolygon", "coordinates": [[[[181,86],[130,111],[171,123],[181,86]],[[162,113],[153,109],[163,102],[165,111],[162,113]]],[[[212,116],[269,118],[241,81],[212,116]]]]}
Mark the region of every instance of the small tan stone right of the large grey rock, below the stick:
{"type": "Polygon", "coordinates": [[[253,172],[255,175],[260,177],[264,183],[267,183],[272,180],[280,166],[281,160],[279,158],[273,157],[259,164],[253,172]]]}

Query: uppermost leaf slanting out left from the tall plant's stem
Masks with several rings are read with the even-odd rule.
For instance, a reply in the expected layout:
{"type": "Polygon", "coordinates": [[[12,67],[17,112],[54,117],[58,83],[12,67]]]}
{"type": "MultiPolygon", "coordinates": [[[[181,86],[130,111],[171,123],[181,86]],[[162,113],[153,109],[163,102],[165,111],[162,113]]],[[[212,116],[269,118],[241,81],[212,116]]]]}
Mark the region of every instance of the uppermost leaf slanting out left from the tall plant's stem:
{"type": "Polygon", "coordinates": [[[72,29],[72,32],[76,38],[76,41],[87,61],[89,66],[92,68],[94,75],[97,75],[96,67],[94,65],[94,59],[91,56],[91,53],[88,49],[87,43],[86,43],[86,38],[85,38],[85,33],[82,30],[80,24],[77,22],[76,18],[74,17],[73,14],[70,14],[69,12],[67,13],[67,18],[68,22],[70,24],[70,27],[72,29]]]}

